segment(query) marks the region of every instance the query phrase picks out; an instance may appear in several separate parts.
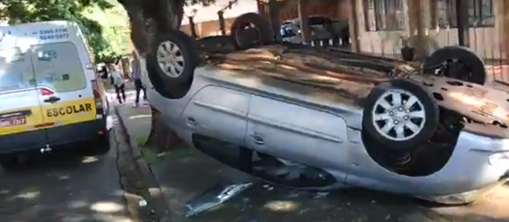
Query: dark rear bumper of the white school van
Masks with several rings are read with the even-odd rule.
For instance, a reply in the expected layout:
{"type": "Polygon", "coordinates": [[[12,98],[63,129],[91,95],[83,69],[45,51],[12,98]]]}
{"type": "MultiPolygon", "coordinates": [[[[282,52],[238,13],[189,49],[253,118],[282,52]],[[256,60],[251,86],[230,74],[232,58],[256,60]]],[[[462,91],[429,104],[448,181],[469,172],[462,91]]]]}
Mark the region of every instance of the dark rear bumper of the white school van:
{"type": "Polygon", "coordinates": [[[80,122],[71,125],[0,137],[0,154],[13,152],[39,151],[49,146],[54,148],[74,149],[82,143],[100,141],[107,136],[106,119],[80,122]]]}

